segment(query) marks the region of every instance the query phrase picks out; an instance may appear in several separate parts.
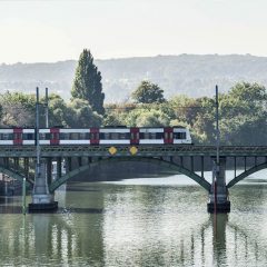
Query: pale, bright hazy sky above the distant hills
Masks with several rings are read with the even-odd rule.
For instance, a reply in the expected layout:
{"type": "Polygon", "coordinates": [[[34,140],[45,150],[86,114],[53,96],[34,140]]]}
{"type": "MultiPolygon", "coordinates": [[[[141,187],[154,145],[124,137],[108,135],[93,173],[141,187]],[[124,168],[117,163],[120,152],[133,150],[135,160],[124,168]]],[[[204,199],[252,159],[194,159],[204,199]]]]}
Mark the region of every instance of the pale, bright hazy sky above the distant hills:
{"type": "Polygon", "coordinates": [[[0,0],[0,63],[158,55],[267,57],[266,0],[0,0]]]}

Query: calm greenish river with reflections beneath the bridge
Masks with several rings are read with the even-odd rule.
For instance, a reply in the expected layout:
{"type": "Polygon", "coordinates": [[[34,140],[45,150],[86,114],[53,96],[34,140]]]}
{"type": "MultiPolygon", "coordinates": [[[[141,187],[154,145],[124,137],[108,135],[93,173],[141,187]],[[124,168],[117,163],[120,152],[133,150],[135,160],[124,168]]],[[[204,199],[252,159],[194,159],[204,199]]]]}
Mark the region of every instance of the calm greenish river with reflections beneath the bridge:
{"type": "Polygon", "coordinates": [[[233,187],[231,212],[217,217],[184,176],[67,189],[56,214],[1,199],[0,266],[267,266],[267,171],[233,187]]]}

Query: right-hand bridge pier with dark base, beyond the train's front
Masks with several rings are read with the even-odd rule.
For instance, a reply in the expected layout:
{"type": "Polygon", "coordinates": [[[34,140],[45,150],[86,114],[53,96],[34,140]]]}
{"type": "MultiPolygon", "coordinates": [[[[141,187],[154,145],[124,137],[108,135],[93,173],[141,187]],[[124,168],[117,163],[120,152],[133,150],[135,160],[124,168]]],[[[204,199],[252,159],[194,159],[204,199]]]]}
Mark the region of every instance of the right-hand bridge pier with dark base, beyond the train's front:
{"type": "Polygon", "coordinates": [[[214,160],[211,188],[209,191],[208,212],[230,212],[230,201],[228,200],[228,189],[226,187],[226,157],[219,158],[219,166],[214,160]]]}

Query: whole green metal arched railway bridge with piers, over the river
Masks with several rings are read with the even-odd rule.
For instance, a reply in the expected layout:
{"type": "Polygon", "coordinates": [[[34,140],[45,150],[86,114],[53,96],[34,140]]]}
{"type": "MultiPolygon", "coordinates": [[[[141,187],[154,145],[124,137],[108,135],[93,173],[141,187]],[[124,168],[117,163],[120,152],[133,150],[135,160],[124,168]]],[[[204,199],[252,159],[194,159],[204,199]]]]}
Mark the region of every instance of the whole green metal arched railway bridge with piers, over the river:
{"type": "Polygon", "coordinates": [[[0,172],[33,187],[38,204],[29,209],[55,209],[55,190],[62,184],[91,166],[121,161],[142,161],[156,164],[184,174],[194,179],[209,196],[208,211],[230,211],[228,189],[249,175],[267,168],[267,147],[221,146],[219,148],[219,167],[215,159],[215,146],[195,145],[115,145],[115,146],[40,146],[40,177],[34,178],[37,164],[36,146],[1,146],[0,172]],[[52,161],[57,161],[57,177],[52,178],[52,161]],[[66,174],[62,172],[62,162],[66,174]],[[234,170],[233,179],[226,184],[226,168],[234,170]],[[237,168],[243,169],[237,175],[237,168]],[[218,179],[209,182],[205,171],[218,171],[218,179]]]}

